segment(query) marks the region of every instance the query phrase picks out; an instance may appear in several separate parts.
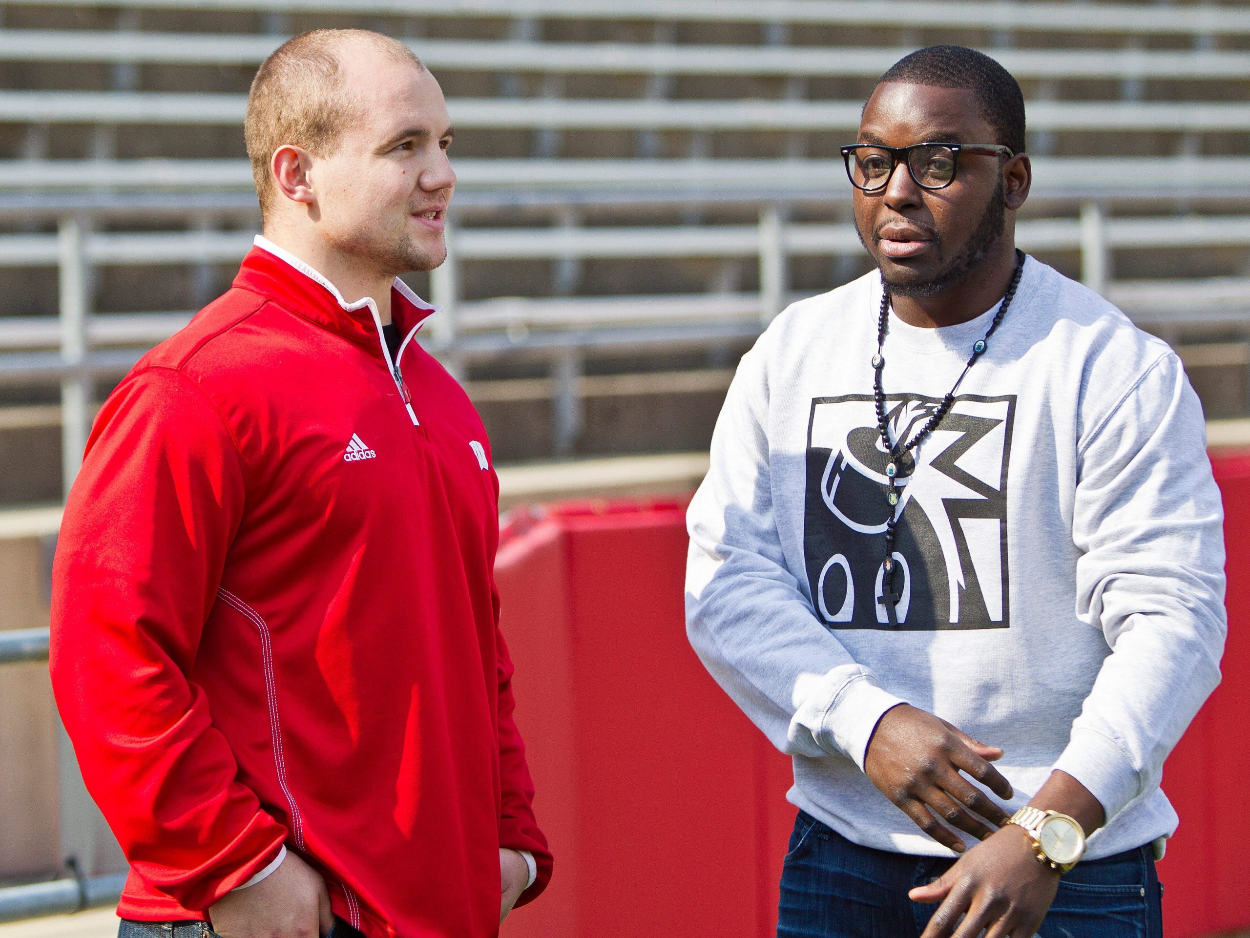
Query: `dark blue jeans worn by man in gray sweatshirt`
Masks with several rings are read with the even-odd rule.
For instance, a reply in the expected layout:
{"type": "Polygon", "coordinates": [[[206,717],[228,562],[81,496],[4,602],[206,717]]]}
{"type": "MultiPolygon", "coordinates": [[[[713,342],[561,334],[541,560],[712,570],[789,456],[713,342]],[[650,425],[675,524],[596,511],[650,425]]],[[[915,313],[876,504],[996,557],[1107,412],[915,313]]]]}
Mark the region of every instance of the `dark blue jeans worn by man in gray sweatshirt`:
{"type": "MultiPolygon", "coordinates": [[[[908,890],[955,863],[860,847],[799,812],[781,872],[778,938],[918,938],[938,905],[908,890]]],[[[1039,938],[1162,938],[1150,845],[1079,863],[1059,880],[1039,938]]]]}

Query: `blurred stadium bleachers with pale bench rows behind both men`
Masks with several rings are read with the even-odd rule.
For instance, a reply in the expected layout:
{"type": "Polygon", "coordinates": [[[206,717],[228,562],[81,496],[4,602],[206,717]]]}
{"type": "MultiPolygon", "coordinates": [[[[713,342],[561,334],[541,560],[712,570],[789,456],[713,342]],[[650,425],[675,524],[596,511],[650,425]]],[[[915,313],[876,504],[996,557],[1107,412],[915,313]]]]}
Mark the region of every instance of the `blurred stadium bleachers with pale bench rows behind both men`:
{"type": "Polygon", "coordinates": [[[448,94],[452,255],[412,284],[501,459],[702,445],[762,325],[868,269],[838,146],[939,41],[1024,86],[1022,246],[1172,341],[1209,413],[1250,408],[1245,3],[24,0],[0,3],[21,433],[42,405],[41,445],[60,424],[80,450],[100,393],[224,286],[259,220],[251,74],[326,25],[401,38],[448,94]]]}

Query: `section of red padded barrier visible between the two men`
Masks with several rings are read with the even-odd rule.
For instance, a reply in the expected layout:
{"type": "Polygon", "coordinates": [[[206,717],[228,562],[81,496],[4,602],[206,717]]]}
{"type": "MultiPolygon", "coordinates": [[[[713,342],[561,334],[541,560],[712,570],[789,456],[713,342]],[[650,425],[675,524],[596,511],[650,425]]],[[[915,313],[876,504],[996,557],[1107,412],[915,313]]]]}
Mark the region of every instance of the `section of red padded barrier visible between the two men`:
{"type": "Polygon", "coordinates": [[[789,760],[704,670],[682,613],[685,505],[565,505],[496,564],[516,719],[555,853],[505,938],[765,938],[789,760]]]}

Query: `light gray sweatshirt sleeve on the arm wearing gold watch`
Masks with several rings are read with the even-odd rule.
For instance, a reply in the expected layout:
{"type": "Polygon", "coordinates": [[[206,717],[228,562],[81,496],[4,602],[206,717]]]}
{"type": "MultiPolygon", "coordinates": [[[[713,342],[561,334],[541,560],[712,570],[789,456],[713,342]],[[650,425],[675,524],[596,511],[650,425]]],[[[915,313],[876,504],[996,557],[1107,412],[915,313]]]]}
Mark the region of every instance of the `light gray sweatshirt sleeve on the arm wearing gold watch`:
{"type": "Polygon", "coordinates": [[[1224,513],[1202,409],[1170,351],[1079,453],[1078,615],[1111,653],[1055,763],[1111,820],[1154,790],[1164,759],[1220,679],[1224,513]]]}

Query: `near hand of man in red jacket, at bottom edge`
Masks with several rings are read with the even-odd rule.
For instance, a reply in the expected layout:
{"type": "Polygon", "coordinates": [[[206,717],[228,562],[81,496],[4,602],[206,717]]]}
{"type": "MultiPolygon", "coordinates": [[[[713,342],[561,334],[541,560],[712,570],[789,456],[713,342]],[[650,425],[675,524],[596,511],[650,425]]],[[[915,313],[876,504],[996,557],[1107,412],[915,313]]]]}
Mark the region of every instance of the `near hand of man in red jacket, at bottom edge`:
{"type": "Polygon", "coordinates": [[[324,938],[334,913],[321,874],[288,850],[259,883],[218,899],[209,919],[221,938],[324,938]]]}

